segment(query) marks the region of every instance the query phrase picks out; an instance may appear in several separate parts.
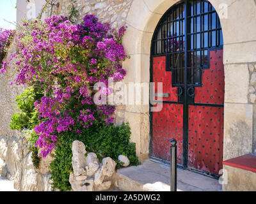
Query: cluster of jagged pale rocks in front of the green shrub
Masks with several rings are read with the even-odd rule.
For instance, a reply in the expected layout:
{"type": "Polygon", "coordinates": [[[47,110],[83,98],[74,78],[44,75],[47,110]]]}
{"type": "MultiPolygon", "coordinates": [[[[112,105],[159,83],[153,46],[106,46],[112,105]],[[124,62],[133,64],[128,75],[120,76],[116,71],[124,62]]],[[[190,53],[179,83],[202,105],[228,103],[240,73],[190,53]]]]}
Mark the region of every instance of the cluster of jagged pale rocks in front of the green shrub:
{"type": "Polygon", "coordinates": [[[71,172],[68,179],[72,191],[104,191],[111,187],[116,168],[116,162],[111,157],[102,159],[101,164],[93,152],[84,157],[85,146],[79,141],[73,142],[72,152],[74,173],[71,172]]]}

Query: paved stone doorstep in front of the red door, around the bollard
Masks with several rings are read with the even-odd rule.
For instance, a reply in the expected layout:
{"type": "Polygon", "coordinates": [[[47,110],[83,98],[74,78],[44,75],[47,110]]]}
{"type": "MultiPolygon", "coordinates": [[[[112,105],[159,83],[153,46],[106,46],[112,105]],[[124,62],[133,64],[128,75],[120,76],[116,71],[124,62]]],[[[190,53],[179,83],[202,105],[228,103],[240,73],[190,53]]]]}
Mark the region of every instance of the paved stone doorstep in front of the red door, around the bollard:
{"type": "MultiPolygon", "coordinates": [[[[170,191],[170,166],[147,160],[118,170],[150,191],[170,191]]],[[[177,170],[177,191],[222,191],[218,180],[188,170],[177,170]]]]}

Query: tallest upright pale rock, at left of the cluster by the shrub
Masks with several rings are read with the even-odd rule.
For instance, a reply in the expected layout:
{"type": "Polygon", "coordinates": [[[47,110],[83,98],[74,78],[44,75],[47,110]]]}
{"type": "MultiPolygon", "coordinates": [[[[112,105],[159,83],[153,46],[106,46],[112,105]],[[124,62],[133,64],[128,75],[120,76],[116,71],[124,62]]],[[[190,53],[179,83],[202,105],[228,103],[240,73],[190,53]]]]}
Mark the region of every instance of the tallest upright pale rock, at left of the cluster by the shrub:
{"type": "Polygon", "coordinates": [[[79,176],[83,173],[86,173],[85,165],[86,158],[84,154],[86,153],[85,146],[83,142],[79,142],[78,140],[72,143],[72,166],[74,175],[79,176]]]}

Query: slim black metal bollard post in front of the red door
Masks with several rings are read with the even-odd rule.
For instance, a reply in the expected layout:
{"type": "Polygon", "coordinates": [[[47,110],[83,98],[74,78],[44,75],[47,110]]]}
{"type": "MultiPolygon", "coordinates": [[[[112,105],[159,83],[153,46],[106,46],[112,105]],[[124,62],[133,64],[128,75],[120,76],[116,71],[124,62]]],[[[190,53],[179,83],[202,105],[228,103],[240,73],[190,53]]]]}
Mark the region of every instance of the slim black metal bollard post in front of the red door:
{"type": "Polygon", "coordinates": [[[177,141],[175,139],[172,139],[170,141],[170,186],[171,191],[177,191],[177,141]]]}

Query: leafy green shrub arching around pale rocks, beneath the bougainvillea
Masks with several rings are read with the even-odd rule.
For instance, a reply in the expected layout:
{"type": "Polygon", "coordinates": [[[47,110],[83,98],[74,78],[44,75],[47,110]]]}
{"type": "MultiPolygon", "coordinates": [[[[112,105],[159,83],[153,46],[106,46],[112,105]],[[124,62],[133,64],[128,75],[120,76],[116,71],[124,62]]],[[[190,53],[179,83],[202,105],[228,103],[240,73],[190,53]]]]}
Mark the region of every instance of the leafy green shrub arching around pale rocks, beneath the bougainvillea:
{"type": "Polygon", "coordinates": [[[86,146],[87,152],[95,152],[100,161],[104,157],[111,157],[116,161],[118,156],[123,154],[130,160],[131,165],[138,165],[135,143],[130,143],[131,130],[128,124],[121,126],[106,125],[104,123],[94,124],[85,128],[82,134],[62,133],[58,136],[57,147],[53,155],[54,161],[51,162],[52,188],[60,191],[71,189],[68,182],[69,174],[72,171],[72,142],[79,140],[86,146]]]}

